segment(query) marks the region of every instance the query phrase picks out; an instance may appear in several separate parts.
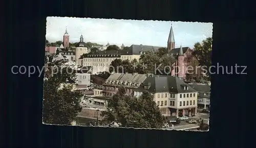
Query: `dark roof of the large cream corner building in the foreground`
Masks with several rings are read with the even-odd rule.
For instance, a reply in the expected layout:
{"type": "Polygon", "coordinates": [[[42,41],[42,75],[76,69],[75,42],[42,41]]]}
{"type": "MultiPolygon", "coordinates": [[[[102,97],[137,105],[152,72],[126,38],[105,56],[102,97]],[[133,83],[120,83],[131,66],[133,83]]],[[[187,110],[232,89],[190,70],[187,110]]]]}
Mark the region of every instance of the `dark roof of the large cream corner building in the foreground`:
{"type": "Polygon", "coordinates": [[[173,76],[152,76],[145,79],[141,87],[135,91],[143,91],[144,86],[150,86],[147,91],[150,92],[174,92],[174,93],[185,93],[185,92],[197,92],[189,85],[184,83],[178,77],[173,76]],[[188,86],[188,90],[182,89],[182,86],[188,86]]]}

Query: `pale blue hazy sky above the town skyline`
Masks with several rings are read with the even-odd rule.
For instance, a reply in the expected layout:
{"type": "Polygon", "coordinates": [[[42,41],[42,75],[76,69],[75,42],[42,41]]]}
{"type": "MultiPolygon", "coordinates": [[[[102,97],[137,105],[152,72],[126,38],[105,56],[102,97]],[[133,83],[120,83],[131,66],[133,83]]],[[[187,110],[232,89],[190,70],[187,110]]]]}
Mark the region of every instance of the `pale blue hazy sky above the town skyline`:
{"type": "Polygon", "coordinates": [[[131,46],[142,44],[167,46],[170,26],[173,25],[175,47],[193,48],[196,42],[212,37],[212,23],[124,20],[76,17],[47,17],[46,39],[49,42],[63,40],[68,30],[70,42],[79,42],[81,34],[84,42],[102,45],[110,44],[131,46]]]}

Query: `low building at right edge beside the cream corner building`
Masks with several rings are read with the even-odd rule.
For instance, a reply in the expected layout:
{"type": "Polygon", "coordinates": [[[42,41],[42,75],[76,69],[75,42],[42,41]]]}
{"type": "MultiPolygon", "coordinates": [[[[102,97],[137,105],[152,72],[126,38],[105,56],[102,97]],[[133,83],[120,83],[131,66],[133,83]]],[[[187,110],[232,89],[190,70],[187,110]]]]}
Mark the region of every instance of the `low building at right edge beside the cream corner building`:
{"type": "Polygon", "coordinates": [[[209,109],[210,107],[210,86],[189,84],[190,87],[198,91],[197,104],[198,108],[209,109]]]}

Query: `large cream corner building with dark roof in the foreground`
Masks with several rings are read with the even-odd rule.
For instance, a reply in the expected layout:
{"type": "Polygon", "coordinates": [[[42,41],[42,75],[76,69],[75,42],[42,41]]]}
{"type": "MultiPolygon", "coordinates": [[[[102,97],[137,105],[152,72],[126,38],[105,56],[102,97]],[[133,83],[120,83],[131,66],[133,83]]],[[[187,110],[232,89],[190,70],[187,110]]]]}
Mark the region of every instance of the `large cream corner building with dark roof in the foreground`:
{"type": "Polygon", "coordinates": [[[143,91],[150,92],[164,116],[197,114],[197,91],[178,77],[152,76],[134,90],[139,97],[143,91]]]}

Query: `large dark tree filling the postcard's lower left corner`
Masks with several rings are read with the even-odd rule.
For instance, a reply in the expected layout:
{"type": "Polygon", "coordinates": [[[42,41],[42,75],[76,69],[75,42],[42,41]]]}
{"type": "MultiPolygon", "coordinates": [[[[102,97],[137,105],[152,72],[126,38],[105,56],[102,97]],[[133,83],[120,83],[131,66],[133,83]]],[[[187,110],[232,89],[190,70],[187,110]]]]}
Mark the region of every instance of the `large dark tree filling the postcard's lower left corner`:
{"type": "Polygon", "coordinates": [[[42,111],[45,124],[70,125],[82,109],[82,94],[75,89],[74,84],[76,75],[68,72],[71,71],[69,67],[61,68],[62,63],[63,61],[50,63],[50,73],[45,76],[42,111]]]}

